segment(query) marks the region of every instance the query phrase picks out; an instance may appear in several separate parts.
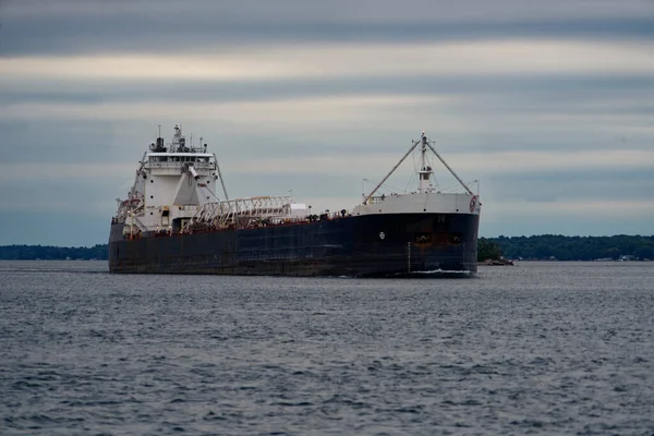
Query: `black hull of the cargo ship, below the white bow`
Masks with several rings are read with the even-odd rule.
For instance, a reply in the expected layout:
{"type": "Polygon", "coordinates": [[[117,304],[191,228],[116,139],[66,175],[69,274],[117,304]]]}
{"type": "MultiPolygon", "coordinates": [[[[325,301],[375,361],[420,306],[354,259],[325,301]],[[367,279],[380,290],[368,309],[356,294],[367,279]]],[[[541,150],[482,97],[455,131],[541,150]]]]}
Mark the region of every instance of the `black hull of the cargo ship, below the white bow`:
{"type": "Polygon", "coordinates": [[[111,226],[111,272],[432,277],[477,268],[474,214],[348,216],[146,238],[123,235],[125,226],[111,226]]]}

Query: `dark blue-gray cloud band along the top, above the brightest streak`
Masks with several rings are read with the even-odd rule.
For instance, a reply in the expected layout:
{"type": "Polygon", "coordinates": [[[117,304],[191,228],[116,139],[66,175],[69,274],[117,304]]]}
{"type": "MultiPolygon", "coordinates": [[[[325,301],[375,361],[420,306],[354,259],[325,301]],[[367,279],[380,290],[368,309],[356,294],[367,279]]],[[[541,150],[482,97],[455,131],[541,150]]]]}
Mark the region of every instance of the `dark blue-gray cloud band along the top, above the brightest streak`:
{"type": "MultiPolygon", "coordinates": [[[[0,56],[138,52],[210,55],[270,43],[396,44],[516,38],[651,39],[644,0],[408,2],[13,1],[0,56]],[[193,7],[190,8],[189,4],[193,7]]],[[[2,11],[0,11],[2,12],[2,11]]]]}

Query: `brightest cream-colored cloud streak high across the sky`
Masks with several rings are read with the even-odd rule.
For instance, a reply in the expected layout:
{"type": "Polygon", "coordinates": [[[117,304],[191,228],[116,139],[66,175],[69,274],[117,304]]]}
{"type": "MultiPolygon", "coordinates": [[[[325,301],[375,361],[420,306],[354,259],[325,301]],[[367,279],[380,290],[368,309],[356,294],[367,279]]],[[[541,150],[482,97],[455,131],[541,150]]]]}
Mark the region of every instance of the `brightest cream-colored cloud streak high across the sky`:
{"type": "Polygon", "coordinates": [[[652,74],[654,43],[488,40],[283,45],[238,53],[0,58],[8,78],[247,81],[485,74],[652,74]]]}

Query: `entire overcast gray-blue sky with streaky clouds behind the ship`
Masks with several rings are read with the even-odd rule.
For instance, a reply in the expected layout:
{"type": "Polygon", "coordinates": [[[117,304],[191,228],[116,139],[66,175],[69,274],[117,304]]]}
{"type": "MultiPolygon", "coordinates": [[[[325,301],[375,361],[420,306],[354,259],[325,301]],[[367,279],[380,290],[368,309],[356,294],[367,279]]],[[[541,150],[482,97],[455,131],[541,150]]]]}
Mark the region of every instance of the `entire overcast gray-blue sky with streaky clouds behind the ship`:
{"type": "Polygon", "coordinates": [[[232,197],[351,208],[425,130],[482,235],[654,233],[649,0],[0,0],[0,244],[106,242],[175,123],[232,197]]]}

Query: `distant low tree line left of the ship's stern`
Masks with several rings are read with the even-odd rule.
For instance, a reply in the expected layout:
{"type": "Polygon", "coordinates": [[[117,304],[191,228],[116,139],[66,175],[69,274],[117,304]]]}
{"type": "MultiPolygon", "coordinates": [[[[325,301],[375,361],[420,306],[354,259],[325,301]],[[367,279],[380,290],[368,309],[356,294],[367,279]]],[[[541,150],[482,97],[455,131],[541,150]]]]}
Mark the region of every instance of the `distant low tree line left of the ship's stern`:
{"type": "Polygon", "coordinates": [[[106,261],[107,244],[86,246],[4,245],[0,246],[2,261],[106,261]]]}

